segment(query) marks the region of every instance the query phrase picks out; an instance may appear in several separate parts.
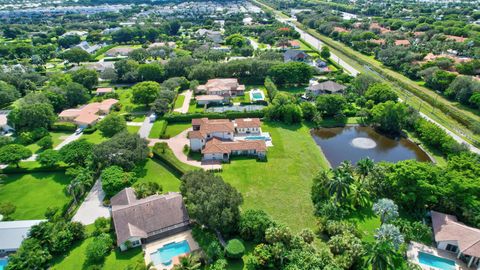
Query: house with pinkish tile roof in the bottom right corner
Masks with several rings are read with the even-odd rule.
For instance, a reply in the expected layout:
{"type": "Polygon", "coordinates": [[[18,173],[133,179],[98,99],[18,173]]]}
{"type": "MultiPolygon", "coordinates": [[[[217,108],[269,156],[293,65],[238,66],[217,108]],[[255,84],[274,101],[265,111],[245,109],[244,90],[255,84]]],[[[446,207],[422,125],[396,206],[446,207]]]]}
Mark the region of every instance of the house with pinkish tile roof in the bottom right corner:
{"type": "Polygon", "coordinates": [[[430,213],[437,248],[457,254],[468,267],[480,269],[480,229],[469,227],[452,215],[430,213]]]}

